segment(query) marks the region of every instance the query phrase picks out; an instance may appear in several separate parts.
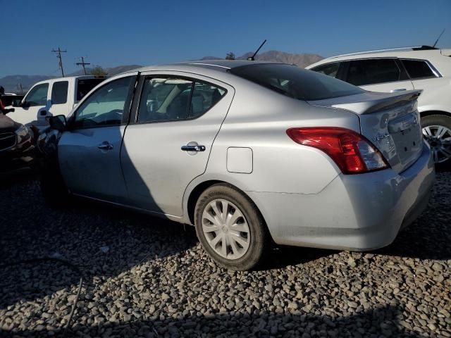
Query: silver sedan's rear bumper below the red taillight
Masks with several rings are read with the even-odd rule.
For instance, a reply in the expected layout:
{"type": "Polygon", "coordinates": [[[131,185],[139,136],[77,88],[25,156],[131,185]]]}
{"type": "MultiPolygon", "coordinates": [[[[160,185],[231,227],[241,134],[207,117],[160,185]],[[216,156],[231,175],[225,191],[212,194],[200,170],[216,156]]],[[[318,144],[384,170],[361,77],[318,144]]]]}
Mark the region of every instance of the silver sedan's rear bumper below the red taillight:
{"type": "Polygon", "coordinates": [[[387,246],[424,210],[435,179],[424,144],[403,173],[338,175],[319,194],[247,192],[277,244],[366,251],[387,246]]]}

